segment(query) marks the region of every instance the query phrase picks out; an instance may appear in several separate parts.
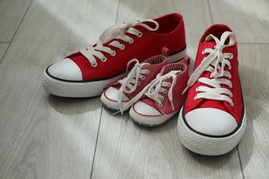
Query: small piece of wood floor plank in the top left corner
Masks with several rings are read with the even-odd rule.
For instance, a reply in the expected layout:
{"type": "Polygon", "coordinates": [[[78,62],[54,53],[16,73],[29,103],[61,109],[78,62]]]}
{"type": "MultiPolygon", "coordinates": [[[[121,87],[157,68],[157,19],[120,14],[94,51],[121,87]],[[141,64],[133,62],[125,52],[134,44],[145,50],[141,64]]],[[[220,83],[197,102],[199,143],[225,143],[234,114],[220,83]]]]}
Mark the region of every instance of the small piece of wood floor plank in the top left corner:
{"type": "Polygon", "coordinates": [[[0,1],[0,42],[10,42],[31,0],[0,1]]]}

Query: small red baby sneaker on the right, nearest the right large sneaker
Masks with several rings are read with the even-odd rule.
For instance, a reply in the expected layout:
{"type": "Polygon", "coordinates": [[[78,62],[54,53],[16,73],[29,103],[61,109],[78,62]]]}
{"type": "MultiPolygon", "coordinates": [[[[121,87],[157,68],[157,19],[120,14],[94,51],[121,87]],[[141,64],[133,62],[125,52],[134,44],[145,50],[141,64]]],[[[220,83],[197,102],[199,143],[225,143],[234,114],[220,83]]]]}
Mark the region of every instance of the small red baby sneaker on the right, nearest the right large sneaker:
{"type": "Polygon", "coordinates": [[[184,63],[171,63],[163,67],[145,92],[145,97],[132,105],[130,116],[141,125],[156,126],[166,123],[182,107],[187,94],[181,95],[189,78],[186,56],[184,63]]]}

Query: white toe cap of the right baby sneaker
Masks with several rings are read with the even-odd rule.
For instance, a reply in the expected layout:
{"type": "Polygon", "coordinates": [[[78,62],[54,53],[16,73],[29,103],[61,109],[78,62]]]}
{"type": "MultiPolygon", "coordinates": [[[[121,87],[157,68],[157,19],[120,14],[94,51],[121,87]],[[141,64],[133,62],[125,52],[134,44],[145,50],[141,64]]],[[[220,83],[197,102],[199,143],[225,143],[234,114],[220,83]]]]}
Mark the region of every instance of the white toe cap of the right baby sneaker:
{"type": "Polygon", "coordinates": [[[135,112],[145,115],[145,116],[159,116],[161,115],[160,112],[157,111],[157,109],[151,107],[150,105],[147,105],[146,103],[143,103],[141,101],[138,101],[134,105],[135,112]]]}

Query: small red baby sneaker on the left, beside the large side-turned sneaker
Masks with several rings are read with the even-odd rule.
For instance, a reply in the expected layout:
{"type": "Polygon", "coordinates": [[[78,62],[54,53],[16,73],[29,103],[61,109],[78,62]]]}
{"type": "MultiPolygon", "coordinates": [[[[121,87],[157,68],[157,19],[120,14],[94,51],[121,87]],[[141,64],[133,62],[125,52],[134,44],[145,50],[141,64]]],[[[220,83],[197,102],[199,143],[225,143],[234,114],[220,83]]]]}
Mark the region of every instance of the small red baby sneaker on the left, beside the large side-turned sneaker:
{"type": "Polygon", "coordinates": [[[131,107],[141,98],[150,82],[167,64],[168,51],[167,48],[163,48],[162,55],[153,56],[142,63],[139,63],[137,59],[129,61],[127,70],[132,62],[136,62],[135,67],[132,68],[126,78],[119,80],[117,83],[112,83],[103,92],[101,95],[103,105],[112,110],[119,110],[121,114],[131,107]]]}

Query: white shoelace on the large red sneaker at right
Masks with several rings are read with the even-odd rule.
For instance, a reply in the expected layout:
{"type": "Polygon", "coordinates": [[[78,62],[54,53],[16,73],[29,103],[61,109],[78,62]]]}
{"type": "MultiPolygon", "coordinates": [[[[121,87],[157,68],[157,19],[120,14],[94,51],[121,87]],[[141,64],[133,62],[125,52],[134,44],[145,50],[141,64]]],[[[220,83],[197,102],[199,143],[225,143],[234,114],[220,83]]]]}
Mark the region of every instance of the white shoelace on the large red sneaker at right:
{"type": "Polygon", "coordinates": [[[203,83],[210,87],[197,87],[196,91],[199,92],[199,94],[195,96],[195,100],[199,98],[206,98],[217,101],[226,101],[230,103],[231,106],[233,106],[234,103],[231,99],[232,92],[229,89],[221,87],[221,85],[228,85],[230,88],[232,88],[231,81],[222,77],[226,76],[228,78],[232,78],[230,72],[225,71],[224,67],[227,65],[228,69],[231,69],[229,60],[233,59],[233,54],[223,53],[222,50],[223,48],[235,45],[235,33],[228,31],[224,32],[221,35],[220,41],[219,39],[217,39],[216,36],[213,36],[212,34],[206,37],[206,41],[210,41],[211,39],[214,39],[217,45],[215,45],[214,50],[211,48],[206,48],[205,50],[203,50],[203,54],[209,55],[203,59],[202,63],[197,67],[195,72],[193,72],[192,76],[190,76],[190,79],[188,80],[188,86],[183,91],[183,93],[185,93],[188,87],[194,85],[198,80],[199,83],[203,83]],[[229,43],[225,44],[228,38],[230,38],[229,43]],[[199,76],[205,71],[210,72],[210,78],[199,78],[199,76]]]}

